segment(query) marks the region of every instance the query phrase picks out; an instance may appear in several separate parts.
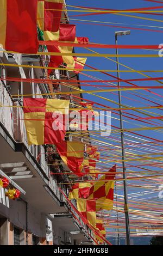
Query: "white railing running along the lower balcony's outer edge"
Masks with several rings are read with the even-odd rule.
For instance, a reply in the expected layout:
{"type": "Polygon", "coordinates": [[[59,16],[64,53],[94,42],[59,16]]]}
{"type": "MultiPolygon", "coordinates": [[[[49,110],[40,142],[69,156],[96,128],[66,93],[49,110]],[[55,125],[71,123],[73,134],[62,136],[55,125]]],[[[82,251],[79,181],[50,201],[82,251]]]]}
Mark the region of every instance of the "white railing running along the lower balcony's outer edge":
{"type": "MultiPolygon", "coordinates": [[[[49,165],[47,161],[47,151],[43,145],[28,145],[27,141],[27,132],[26,127],[24,125],[24,114],[20,101],[17,99],[12,99],[8,89],[5,85],[0,81],[0,122],[3,124],[5,129],[8,131],[9,135],[17,142],[23,143],[26,145],[27,149],[30,153],[37,159],[41,168],[49,177],[49,187],[56,194],[58,199],[61,202],[67,203],[67,200],[59,188],[64,191],[66,196],[68,196],[68,185],[66,183],[67,175],[66,174],[58,174],[58,175],[50,175],[49,173],[49,165]],[[39,156],[39,157],[38,157],[39,156]],[[62,184],[65,183],[65,184],[62,184]]],[[[60,161],[61,163],[62,161],[60,161]]],[[[72,209],[74,216],[78,218],[80,223],[82,224],[82,228],[87,231],[87,227],[82,221],[82,219],[78,216],[77,212],[72,209]]]]}

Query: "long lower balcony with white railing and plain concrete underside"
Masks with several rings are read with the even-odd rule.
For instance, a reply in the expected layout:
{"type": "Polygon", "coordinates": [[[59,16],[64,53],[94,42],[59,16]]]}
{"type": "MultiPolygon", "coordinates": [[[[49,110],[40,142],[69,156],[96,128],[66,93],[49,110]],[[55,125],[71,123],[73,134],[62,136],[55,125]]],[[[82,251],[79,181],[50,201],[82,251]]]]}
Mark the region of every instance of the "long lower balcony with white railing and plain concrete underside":
{"type": "MultiPolygon", "coordinates": [[[[48,157],[52,155],[47,154],[48,150],[44,145],[28,145],[23,118],[21,99],[12,99],[7,86],[0,81],[0,163],[3,172],[27,192],[26,200],[40,211],[46,214],[67,212],[68,208],[64,207],[67,200],[58,188],[68,196],[68,178],[64,174],[64,163],[54,156],[53,172],[61,174],[50,175],[52,169],[48,157]]],[[[72,212],[72,231],[76,216],[82,233],[88,235],[90,230],[73,209],[72,212]]]]}

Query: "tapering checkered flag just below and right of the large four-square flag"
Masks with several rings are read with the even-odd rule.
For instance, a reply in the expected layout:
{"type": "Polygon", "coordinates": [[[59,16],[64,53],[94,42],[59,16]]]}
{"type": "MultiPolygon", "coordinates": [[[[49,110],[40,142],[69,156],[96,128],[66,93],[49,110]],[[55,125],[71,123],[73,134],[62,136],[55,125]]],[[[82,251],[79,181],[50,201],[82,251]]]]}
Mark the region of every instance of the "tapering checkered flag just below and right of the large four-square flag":
{"type": "Polygon", "coordinates": [[[84,143],[63,141],[56,144],[58,153],[68,168],[78,176],[83,176],[81,172],[84,160],[84,143]]]}

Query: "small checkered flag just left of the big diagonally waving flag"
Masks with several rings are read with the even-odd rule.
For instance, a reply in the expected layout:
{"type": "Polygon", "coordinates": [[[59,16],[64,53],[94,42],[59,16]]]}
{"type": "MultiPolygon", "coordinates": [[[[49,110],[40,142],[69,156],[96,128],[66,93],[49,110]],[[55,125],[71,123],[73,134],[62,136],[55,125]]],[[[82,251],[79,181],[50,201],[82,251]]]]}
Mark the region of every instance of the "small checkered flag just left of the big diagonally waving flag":
{"type": "Polygon", "coordinates": [[[81,182],[74,184],[68,194],[68,199],[87,198],[89,196],[91,182],[81,182]]]}

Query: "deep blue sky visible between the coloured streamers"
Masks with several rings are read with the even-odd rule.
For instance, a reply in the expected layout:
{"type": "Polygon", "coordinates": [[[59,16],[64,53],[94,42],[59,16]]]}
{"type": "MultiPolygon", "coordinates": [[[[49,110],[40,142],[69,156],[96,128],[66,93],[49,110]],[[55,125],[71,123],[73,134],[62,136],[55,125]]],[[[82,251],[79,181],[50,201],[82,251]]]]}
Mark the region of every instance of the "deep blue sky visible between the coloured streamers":
{"type": "MultiPolygon", "coordinates": [[[[96,7],[96,8],[108,8],[108,9],[133,9],[133,8],[143,8],[143,7],[153,7],[153,6],[161,6],[161,4],[157,3],[151,3],[147,1],[142,1],[142,0],[137,0],[137,1],[130,1],[130,0],[115,0],[115,1],[108,1],[108,0],[103,0],[103,1],[79,1],[79,0],[67,0],[67,4],[70,5],[79,5],[79,6],[84,6],[84,7],[96,7]]],[[[163,6],[163,3],[162,3],[163,6]]],[[[68,7],[70,8],[70,7],[68,7]]],[[[70,16],[70,23],[74,23],[77,25],[77,36],[87,36],[89,37],[90,42],[95,42],[95,43],[101,43],[101,44],[115,44],[115,31],[121,31],[121,30],[128,30],[128,29],[123,29],[123,28],[114,28],[114,27],[105,27],[105,26],[95,26],[93,25],[88,25],[88,24],[80,24],[80,21],[77,23],[75,20],[71,19],[83,19],[83,20],[93,20],[93,21],[104,21],[104,22],[116,22],[116,23],[126,23],[127,25],[122,25],[122,26],[129,26],[133,28],[147,28],[147,29],[156,29],[159,31],[162,31],[161,28],[152,28],[152,27],[142,27],[140,25],[146,25],[146,26],[159,26],[163,28],[163,23],[162,22],[155,22],[155,21],[146,21],[146,20],[140,20],[140,19],[134,19],[131,17],[124,17],[124,16],[118,16],[114,14],[106,14],[106,15],[93,15],[93,16],[84,16],[84,17],[71,17],[71,15],[78,15],[81,13],[69,13],[70,16]],[[133,26],[135,25],[135,26],[133,26]]],[[[142,17],[148,17],[151,19],[157,19],[157,20],[162,20],[162,16],[157,16],[157,15],[145,15],[145,14],[131,14],[131,15],[136,15],[136,16],[142,16],[142,17]]],[[[84,21],[83,21],[84,22],[84,21]]],[[[117,25],[118,26],[118,25],[117,25]]],[[[121,26],[121,25],[120,25],[121,26]]],[[[162,39],[162,33],[159,32],[148,32],[148,31],[139,31],[139,30],[134,30],[130,29],[131,34],[128,36],[119,36],[118,37],[118,44],[129,44],[129,45],[159,45],[163,43],[162,39]]],[[[93,48],[92,50],[99,52],[99,53],[115,53],[115,49],[98,49],[98,48],[93,48]]],[[[76,48],[76,52],[86,52],[90,53],[89,51],[82,49],[82,48],[76,48]]],[[[151,51],[151,50],[126,50],[126,49],[120,49],[118,50],[119,54],[157,54],[156,51],[151,51]]],[[[114,59],[114,58],[113,58],[114,59]]],[[[163,58],[120,58],[120,63],[129,66],[130,68],[133,68],[135,70],[162,70],[162,60],[163,58]]],[[[116,63],[111,62],[108,59],[105,58],[96,58],[96,57],[89,57],[87,59],[86,64],[91,65],[97,69],[109,69],[109,70],[116,70],[116,63]]],[[[121,70],[126,69],[121,66],[121,70]]],[[[86,74],[96,76],[97,78],[101,78],[103,80],[110,79],[109,76],[106,76],[104,74],[101,74],[99,72],[86,72],[86,74]]],[[[110,73],[111,75],[115,75],[116,73],[110,73]]],[[[158,77],[161,76],[161,73],[147,73],[146,75],[149,75],[151,77],[158,77]]],[[[143,78],[140,74],[136,73],[121,73],[121,78],[143,78]]],[[[80,75],[80,79],[87,79],[85,76],[80,75]]],[[[152,82],[135,82],[135,84],[140,85],[140,86],[156,86],[156,85],[161,85],[160,83],[157,83],[155,81],[152,82]]],[[[124,85],[124,83],[122,83],[124,85]]],[[[88,87],[83,87],[83,89],[88,89],[88,87]]],[[[91,88],[89,88],[91,89],[91,88]]],[[[141,91],[142,92],[142,91],[141,91]]],[[[143,91],[144,93],[145,91],[143,91]]],[[[154,92],[162,94],[161,90],[155,89],[154,92]]],[[[134,92],[133,92],[134,93],[134,92]]],[[[151,93],[145,92],[145,94],[149,97],[155,97],[153,101],[157,101],[161,103],[162,98],[152,95],[151,93]]],[[[117,95],[111,94],[111,93],[101,93],[100,95],[108,97],[111,100],[117,101],[117,95]]],[[[123,92],[122,96],[128,96],[131,99],[133,99],[134,96],[131,96],[130,93],[128,92],[123,92]]],[[[108,105],[108,101],[97,99],[97,97],[94,97],[89,94],[84,94],[84,97],[86,99],[91,99],[95,100],[95,102],[101,102],[104,105],[108,105]]],[[[134,97],[135,98],[135,97],[134,97]]],[[[135,98],[136,99],[136,98],[135,98]]],[[[139,99],[137,99],[139,100],[139,99]]],[[[151,99],[152,100],[152,99],[151,99]]],[[[144,101],[145,103],[148,103],[144,101]]],[[[137,106],[143,106],[141,105],[142,102],[134,102],[133,100],[126,100],[123,99],[122,97],[122,103],[126,103],[128,105],[137,107],[137,106]]],[[[152,105],[152,103],[150,103],[152,105]]],[[[109,103],[110,107],[117,107],[115,104],[109,103]]],[[[161,113],[159,110],[155,110],[154,112],[161,113]]],[[[129,126],[131,127],[131,125],[129,126]]],[[[155,132],[151,132],[151,135],[156,137],[155,132]]],[[[142,132],[143,134],[143,132],[142,132]]],[[[151,136],[152,137],[152,136],[151,136]]]]}

